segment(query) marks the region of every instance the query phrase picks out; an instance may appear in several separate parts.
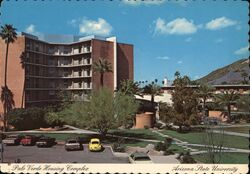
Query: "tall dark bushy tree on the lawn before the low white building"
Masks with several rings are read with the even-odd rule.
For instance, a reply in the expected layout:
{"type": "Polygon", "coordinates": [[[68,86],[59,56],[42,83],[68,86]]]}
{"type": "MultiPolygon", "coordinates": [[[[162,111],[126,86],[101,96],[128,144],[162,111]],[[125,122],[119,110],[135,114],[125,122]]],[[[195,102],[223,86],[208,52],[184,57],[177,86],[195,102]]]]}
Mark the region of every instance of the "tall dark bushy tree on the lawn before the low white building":
{"type": "Polygon", "coordinates": [[[196,93],[188,85],[190,85],[190,79],[187,76],[179,75],[174,80],[172,121],[179,126],[180,132],[183,126],[190,127],[191,124],[196,124],[200,120],[197,114],[196,93]]]}

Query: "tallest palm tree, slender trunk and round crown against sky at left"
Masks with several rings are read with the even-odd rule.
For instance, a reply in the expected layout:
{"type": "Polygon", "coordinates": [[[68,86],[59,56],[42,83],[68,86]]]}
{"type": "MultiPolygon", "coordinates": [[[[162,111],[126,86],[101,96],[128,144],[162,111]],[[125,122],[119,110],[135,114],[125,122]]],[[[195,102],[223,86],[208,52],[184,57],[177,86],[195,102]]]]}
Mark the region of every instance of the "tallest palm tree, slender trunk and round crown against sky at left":
{"type": "Polygon", "coordinates": [[[6,43],[6,56],[5,56],[5,73],[4,73],[4,86],[7,86],[7,64],[8,64],[8,52],[9,52],[9,44],[14,43],[17,39],[16,28],[12,25],[6,24],[5,26],[1,26],[0,32],[1,38],[6,43]]]}

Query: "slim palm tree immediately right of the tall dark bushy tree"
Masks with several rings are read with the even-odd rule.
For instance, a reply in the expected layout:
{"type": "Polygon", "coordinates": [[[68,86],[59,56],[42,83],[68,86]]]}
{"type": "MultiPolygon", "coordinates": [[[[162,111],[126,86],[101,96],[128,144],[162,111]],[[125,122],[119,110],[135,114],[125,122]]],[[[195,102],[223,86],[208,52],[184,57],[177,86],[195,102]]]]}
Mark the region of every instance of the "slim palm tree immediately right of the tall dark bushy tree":
{"type": "Polygon", "coordinates": [[[205,109],[206,109],[206,102],[207,99],[213,97],[213,91],[214,87],[208,85],[208,84],[201,84],[198,89],[198,97],[202,99],[203,102],[203,115],[205,116],[205,109]]]}

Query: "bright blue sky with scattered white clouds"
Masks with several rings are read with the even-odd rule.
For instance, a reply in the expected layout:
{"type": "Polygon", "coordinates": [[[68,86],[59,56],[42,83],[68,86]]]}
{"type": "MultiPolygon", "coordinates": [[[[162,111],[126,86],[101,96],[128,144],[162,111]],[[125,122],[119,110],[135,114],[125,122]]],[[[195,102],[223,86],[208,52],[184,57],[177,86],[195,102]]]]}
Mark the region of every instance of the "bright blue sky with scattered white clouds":
{"type": "Polygon", "coordinates": [[[134,45],[134,79],[199,79],[249,56],[245,1],[4,1],[0,25],[18,32],[116,36],[134,45]]]}

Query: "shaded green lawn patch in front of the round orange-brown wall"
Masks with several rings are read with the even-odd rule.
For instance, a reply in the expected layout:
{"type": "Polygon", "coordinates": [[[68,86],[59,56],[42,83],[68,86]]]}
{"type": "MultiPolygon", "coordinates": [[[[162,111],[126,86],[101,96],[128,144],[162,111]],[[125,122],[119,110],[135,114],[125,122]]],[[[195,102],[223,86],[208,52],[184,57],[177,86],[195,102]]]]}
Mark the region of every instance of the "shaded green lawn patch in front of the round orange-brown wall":
{"type": "Polygon", "coordinates": [[[110,134],[119,135],[124,137],[134,137],[142,139],[152,139],[152,140],[164,140],[164,137],[152,132],[149,129],[121,129],[121,130],[110,130],[110,134]]]}

